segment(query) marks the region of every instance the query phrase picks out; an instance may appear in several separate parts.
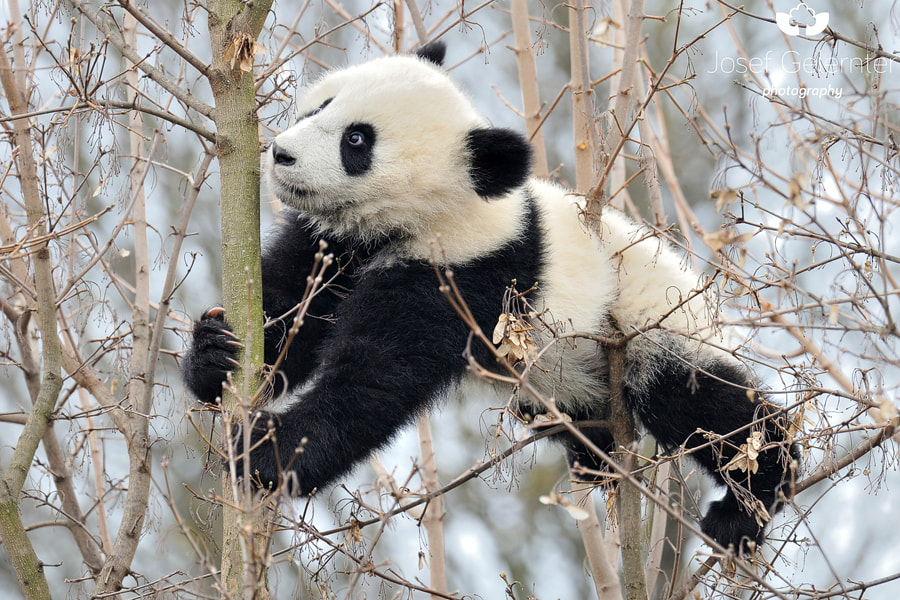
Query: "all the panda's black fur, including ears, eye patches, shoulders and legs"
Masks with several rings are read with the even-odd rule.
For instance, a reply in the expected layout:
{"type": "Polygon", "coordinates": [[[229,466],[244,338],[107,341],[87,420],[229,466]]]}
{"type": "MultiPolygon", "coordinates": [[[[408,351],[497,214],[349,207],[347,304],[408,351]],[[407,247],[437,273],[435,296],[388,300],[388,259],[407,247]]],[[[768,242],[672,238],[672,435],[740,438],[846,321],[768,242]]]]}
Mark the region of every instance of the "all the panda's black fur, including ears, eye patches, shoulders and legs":
{"type": "MultiPolygon", "coordinates": [[[[445,50],[442,42],[434,42],[417,54],[440,65],[445,50]]],[[[372,168],[376,138],[375,128],[366,123],[355,123],[343,132],[340,153],[347,174],[361,175],[372,168]]],[[[505,129],[475,129],[465,143],[471,184],[483,198],[502,196],[527,182],[531,149],[522,135],[505,129]]],[[[272,152],[281,165],[298,158],[277,145],[272,152]]],[[[484,331],[496,325],[504,292],[513,280],[540,282],[545,275],[543,227],[534,200],[527,202],[528,218],[518,237],[477,260],[451,265],[455,282],[484,331]]],[[[263,304],[273,320],[265,335],[267,364],[274,364],[284,348],[290,313],[303,297],[319,252],[320,236],[309,222],[295,212],[285,215],[263,255],[263,304]],[[283,315],[289,316],[282,320],[283,315]]],[[[496,366],[488,349],[467,343],[470,332],[438,289],[434,267],[427,261],[379,260],[398,241],[387,234],[372,235],[370,239],[378,241],[366,244],[325,238],[327,252],[337,259],[325,276],[330,285],[312,299],[304,325],[274,379],[274,394],[287,395],[289,406],[277,414],[259,411],[251,434],[254,445],[270,429],[274,438],[252,450],[249,475],[263,487],[273,487],[285,478],[293,493],[308,494],[333,482],[433,405],[466,373],[463,352],[467,346],[480,364],[496,366]],[[385,264],[393,266],[378,266],[385,264]]],[[[702,352],[696,360],[686,359],[684,345],[679,346],[674,334],[651,333],[659,334],[663,347],[651,357],[636,351],[640,359],[628,365],[629,370],[642,373],[639,377],[631,372],[627,379],[646,384],[638,389],[626,386],[630,411],[665,448],[696,450],[693,456],[720,483],[744,487],[770,513],[777,510],[786,464],[795,453],[778,448],[762,452],[759,472],[750,476],[721,469],[745,443],[749,431],[701,448],[709,440],[698,430],[725,435],[771,416],[756,396],[747,395],[745,389],[752,387],[749,373],[736,364],[715,362],[702,352]]],[[[640,341],[636,338],[631,343],[640,341]]],[[[205,313],[195,324],[183,371],[188,388],[201,401],[215,402],[221,394],[239,347],[221,310],[205,313]]],[[[597,377],[607,376],[598,364],[597,377]]],[[[568,400],[582,406],[585,400],[590,402],[582,413],[571,415],[575,420],[609,418],[608,403],[602,398],[568,400]]],[[[784,432],[776,419],[766,419],[758,429],[767,442],[783,445],[784,432]]],[[[614,450],[605,429],[592,425],[584,431],[601,449],[614,450]]],[[[563,434],[557,439],[570,465],[577,462],[604,470],[602,461],[575,437],[563,434]]],[[[235,440],[241,440],[240,433],[235,440]]],[[[237,464],[243,468],[243,461],[237,464]]],[[[761,542],[764,530],[731,489],[711,504],[701,526],[722,545],[739,549],[747,541],[761,542]]]]}

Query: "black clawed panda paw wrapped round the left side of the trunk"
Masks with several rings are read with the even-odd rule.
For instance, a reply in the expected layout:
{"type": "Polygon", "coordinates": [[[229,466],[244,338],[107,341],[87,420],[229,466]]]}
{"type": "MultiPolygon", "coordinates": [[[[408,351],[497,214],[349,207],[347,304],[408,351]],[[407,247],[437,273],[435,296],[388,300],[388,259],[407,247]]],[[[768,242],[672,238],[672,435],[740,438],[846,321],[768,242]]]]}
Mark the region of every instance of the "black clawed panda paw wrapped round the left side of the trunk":
{"type": "Polygon", "coordinates": [[[211,308],[194,322],[194,339],[181,364],[185,384],[198,400],[215,404],[222,396],[222,383],[239,365],[243,348],[222,308],[211,308]]]}

